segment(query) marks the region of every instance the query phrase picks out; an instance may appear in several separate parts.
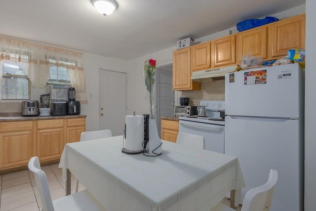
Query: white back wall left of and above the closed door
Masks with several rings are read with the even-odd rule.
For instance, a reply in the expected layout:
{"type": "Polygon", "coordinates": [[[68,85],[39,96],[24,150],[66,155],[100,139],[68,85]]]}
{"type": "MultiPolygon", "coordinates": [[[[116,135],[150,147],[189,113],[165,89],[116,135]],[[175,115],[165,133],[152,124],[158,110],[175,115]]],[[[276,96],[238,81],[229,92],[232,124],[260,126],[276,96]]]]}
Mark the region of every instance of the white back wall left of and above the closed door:
{"type": "Polygon", "coordinates": [[[90,53],[83,53],[83,69],[87,89],[88,104],[81,105],[81,114],[86,117],[86,130],[98,130],[99,119],[99,70],[126,72],[128,62],[90,53]]]}

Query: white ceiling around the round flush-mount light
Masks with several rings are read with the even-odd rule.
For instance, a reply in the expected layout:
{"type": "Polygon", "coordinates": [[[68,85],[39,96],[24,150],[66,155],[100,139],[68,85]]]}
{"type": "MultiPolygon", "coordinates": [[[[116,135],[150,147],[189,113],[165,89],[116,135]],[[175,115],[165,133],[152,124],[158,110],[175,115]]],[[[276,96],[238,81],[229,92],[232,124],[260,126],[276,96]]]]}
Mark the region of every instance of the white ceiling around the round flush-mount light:
{"type": "Polygon", "coordinates": [[[306,0],[116,0],[103,16],[90,0],[0,0],[0,34],[132,60],[306,3],[306,0]]]}

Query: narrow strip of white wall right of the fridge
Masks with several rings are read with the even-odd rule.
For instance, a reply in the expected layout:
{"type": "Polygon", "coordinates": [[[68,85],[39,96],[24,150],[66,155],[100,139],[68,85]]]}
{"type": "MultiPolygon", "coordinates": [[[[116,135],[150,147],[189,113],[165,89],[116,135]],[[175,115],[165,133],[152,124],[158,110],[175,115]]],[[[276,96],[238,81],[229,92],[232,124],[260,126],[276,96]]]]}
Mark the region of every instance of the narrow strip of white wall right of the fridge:
{"type": "Polygon", "coordinates": [[[305,68],[305,211],[315,211],[316,202],[316,1],[306,0],[305,68]]]}

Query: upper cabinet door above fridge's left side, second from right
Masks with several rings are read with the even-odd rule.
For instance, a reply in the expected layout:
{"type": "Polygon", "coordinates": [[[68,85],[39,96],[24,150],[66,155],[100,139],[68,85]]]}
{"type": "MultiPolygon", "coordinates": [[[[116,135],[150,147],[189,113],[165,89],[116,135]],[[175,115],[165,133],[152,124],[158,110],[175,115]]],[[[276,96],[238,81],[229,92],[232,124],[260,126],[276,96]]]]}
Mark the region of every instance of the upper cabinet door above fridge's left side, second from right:
{"type": "Polygon", "coordinates": [[[262,26],[237,34],[238,63],[241,58],[249,55],[267,58],[267,33],[267,26],[262,26]]]}

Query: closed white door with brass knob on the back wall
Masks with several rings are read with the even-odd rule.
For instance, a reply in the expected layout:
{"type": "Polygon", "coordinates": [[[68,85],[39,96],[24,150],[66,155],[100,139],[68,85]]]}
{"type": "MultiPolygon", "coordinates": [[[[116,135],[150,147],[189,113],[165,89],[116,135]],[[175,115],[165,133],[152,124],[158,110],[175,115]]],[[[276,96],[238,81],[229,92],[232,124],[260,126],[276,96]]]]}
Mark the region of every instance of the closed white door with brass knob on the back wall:
{"type": "Polygon", "coordinates": [[[100,129],[122,135],[126,116],[126,73],[100,69],[100,129]]]}

